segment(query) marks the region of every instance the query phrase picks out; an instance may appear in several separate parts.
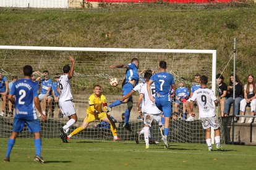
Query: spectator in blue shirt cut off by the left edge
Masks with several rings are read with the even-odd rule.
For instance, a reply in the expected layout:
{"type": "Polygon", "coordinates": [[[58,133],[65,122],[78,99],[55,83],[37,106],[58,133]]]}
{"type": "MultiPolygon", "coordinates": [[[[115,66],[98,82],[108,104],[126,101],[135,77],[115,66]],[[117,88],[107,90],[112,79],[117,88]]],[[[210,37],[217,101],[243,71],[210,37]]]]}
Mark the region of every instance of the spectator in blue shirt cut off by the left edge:
{"type": "Polygon", "coordinates": [[[6,110],[6,102],[7,102],[7,92],[8,92],[8,81],[6,76],[2,75],[2,71],[0,70],[0,97],[2,99],[2,112],[0,116],[5,116],[6,110]]]}

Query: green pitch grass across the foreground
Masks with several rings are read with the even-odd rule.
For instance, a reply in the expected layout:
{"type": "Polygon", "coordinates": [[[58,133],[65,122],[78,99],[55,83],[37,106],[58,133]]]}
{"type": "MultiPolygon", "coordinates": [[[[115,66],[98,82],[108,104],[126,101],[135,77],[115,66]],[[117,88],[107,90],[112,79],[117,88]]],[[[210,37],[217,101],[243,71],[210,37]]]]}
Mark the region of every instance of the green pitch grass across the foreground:
{"type": "Polygon", "coordinates": [[[4,163],[7,139],[0,139],[0,167],[5,169],[254,169],[256,148],[224,145],[226,152],[208,152],[205,144],[145,145],[135,142],[43,139],[42,156],[33,161],[33,139],[17,139],[11,162],[4,163]]]}

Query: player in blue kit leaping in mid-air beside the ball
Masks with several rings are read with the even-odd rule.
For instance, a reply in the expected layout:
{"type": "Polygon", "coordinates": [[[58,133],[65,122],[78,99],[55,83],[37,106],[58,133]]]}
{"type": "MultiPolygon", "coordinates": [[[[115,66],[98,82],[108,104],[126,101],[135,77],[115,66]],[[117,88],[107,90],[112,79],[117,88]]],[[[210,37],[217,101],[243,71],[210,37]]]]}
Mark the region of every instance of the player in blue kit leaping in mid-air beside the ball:
{"type": "MultiPolygon", "coordinates": [[[[111,65],[110,68],[126,68],[126,81],[124,86],[122,87],[122,95],[128,94],[139,82],[139,60],[137,58],[132,59],[131,63],[129,64],[121,64],[121,65],[111,65]]],[[[132,110],[132,97],[124,101],[116,100],[108,106],[108,111],[111,111],[112,107],[116,107],[117,105],[121,105],[122,103],[127,103],[127,108],[124,111],[124,127],[128,131],[132,131],[130,129],[129,118],[130,118],[130,111],[132,110]]]]}

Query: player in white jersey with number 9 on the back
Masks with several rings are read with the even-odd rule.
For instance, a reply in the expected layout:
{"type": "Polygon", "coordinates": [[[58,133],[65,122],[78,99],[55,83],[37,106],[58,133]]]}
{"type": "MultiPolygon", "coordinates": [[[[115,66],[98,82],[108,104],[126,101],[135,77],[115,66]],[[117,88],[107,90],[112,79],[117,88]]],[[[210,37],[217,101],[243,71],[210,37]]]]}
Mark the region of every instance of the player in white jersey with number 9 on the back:
{"type": "Polygon", "coordinates": [[[194,113],[194,102],[197,100],[198,107],[199,107],[199,118],[202,122],[203,129],[205,129],[205,139],[208,145],[208,150],[213,150],[211,147],[211,127],[213,127],[215,131],[215,143],[216,149],[220,151],[224,151],[220,145],[220,123],[218,118],[215,115],[215,106],[218,106],[218,100],[210,89],[207,88],[208,77],[201,76],[200,77],[200,84],[201,88],[194,91],[194,94],[190,100],[190,111],[191,115],[195,116],[194,113]]]}

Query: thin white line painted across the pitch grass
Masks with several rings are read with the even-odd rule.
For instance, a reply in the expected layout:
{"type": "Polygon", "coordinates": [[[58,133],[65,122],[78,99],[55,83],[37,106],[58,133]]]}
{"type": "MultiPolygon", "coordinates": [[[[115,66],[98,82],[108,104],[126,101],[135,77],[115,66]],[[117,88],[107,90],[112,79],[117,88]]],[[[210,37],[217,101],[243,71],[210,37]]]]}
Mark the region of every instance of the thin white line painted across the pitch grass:
{"type": "MultiPolygon", "coordinates": [[[[3,148],[3,147],[0,147],[3,148]]],[[[17,148],[14,147],[14,149],[22,149],[22,150],[34,150],[35,148],[17,148]]],[[[203,153],[203,152],[174,152],[174,151],[160,151],[160,150],[126,150],[126,149],[105,149],[105,148],[46,148],[43,147],[42,150],[72,150],[72,151],[105,151],[105,152],[152,152],[152,153],[184,153],[184,154],[191,154],[191,155],[198,155],[198,154],[204,154],[204,155],[230,155],[230,156],[256,156],[256,155],[245,155],[245,154],[230,154],[230,153],[203,153]]],[[[170,149],[171,150],[171,149],[170,149]]]]}

